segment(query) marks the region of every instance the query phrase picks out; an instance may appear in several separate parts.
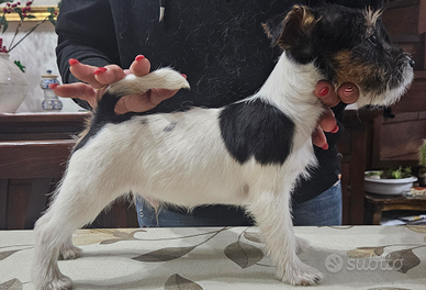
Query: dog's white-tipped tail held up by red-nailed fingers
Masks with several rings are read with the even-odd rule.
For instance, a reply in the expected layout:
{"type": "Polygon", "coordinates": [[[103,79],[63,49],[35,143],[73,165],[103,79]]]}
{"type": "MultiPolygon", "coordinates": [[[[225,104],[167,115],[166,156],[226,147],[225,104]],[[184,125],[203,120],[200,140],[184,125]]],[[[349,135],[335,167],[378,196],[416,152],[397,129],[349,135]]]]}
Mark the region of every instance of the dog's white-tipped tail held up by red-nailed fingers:
{"type": "Polygon", "coordinates": [[[178,90],[182,88],[190,88],[187,79],[171,68],[161,68],[143,77],[128,75],[107,89],[98,102],[96,115],[99,118],[98,121],[102,119],[111,120],[111,116],[116,115],[114,112],[115,104],[122,97],[127,94],[145,93],[150,89],[178,90]]]}

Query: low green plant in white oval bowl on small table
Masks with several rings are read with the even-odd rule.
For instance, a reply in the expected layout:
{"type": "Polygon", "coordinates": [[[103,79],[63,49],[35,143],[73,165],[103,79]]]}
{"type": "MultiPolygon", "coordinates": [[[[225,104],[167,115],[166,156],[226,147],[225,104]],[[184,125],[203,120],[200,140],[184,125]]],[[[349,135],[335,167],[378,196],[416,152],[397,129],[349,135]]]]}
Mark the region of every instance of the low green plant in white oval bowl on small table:
{"type": "Polygon", "coordinates": [[[417,181],[412,176],[410,167],[388,170],[366,171],[365,189],[367,192],[385,196],[397,196],[410,192],[413,182],[417,181]]]}

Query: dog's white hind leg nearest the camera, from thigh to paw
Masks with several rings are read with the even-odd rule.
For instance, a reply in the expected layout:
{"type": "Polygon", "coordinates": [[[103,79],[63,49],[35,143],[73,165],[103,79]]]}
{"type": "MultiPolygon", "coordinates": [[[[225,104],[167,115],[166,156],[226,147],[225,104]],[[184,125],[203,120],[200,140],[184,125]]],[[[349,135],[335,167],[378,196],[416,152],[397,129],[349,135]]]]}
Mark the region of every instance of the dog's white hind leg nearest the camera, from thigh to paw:
{"type": "Polygon", "coordinates": [[[107,177],[108,181],[101,177],[93,172],[93,168],[76,170],[71,158],[54,202],[35,225],[33,282],[37,289],[71,288],[71,280],[59,271],[57,265],[60,247],[71,249],[67,258],[74,256],[76,248],[70,242],[72,233],[93,221],[100,211],[122,193],[119,193],[114,186],[117,182],[112,177],[107,177]]]}

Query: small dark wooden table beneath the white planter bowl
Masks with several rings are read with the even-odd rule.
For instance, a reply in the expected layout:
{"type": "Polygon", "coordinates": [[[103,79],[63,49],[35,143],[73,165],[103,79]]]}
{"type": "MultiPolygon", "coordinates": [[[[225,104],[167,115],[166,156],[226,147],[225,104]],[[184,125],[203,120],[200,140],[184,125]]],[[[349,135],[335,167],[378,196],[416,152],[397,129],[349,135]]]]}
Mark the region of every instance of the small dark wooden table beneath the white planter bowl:
{"type": "Polygon", "coordinates": [[[369,223],[375,225],[380,224],[382,212],[394,210],[426,211],[426,198],[405,198],[403,196],[378,196],[366,193],[366,211],[372,215],[369,217],[369,223]]]}

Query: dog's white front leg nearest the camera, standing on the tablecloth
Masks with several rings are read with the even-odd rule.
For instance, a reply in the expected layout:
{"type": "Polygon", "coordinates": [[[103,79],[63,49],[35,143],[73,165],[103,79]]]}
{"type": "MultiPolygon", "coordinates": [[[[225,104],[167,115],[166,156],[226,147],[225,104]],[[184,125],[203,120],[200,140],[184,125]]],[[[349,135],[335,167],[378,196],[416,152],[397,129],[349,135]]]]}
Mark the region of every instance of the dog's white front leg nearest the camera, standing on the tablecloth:
{"type": "Polygon", "coordinates": [[[296,256],[300,245],[293,233],[289,196],[289,192],[264,192],[256,197],[248,210],[262,231],[268,254],[277,266],[278,278],[290,285],[315,285],[323,275],[296,256]]]}

